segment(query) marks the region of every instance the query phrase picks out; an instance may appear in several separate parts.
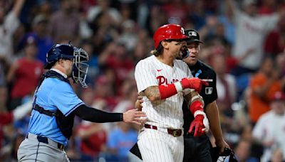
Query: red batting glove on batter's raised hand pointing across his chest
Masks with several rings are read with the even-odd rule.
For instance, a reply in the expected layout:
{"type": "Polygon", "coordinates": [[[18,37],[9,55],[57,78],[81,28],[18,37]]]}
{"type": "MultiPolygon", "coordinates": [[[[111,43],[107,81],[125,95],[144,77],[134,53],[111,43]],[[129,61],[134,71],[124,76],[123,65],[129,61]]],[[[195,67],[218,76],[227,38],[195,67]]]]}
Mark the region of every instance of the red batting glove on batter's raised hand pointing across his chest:
{"type": "Polygon", "coordinates": [[[183,78],[181,80],[181,84],[182,84],[183,89],[185,88],[194,89],[198,93],[201,92],[202,85],[209,86],[208,82],[205,82],[204,80],[200,80],[197,77],[183,78]]]}

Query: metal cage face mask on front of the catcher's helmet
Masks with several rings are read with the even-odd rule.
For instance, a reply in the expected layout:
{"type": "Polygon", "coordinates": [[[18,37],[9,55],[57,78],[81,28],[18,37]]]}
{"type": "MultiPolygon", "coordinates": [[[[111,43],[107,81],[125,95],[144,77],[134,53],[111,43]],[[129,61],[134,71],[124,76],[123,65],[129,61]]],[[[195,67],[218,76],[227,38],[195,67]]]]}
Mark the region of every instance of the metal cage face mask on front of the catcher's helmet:
{"type": "Polygon", "coordinates": [[[72,68],[72,78],[76,83],[80,83],[82,87],[87,87],[86,85],[86,75],[88,72],[88,54],[85,50],[81,48],[74,48],[73,53],[73,68],[72,68]]]}

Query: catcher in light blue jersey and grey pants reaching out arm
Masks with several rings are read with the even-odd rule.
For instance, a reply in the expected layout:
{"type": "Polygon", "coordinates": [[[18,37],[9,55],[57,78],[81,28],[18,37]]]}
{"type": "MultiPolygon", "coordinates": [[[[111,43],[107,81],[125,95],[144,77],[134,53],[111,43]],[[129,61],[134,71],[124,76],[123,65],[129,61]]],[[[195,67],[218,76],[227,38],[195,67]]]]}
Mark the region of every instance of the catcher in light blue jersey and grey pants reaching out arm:
{"type": "Polygon", "coordinates": [[[93,122],[140,124],[143,112],[108,113],[86,106],[73,92],[68,80],[86,87],[88,54],[70,44],[56,44],[48,50],[48,69],[36,88],[28,134],[18,150],[18,161],[69,161],[64,147],[71,137],[75,115],[93,122]]]}

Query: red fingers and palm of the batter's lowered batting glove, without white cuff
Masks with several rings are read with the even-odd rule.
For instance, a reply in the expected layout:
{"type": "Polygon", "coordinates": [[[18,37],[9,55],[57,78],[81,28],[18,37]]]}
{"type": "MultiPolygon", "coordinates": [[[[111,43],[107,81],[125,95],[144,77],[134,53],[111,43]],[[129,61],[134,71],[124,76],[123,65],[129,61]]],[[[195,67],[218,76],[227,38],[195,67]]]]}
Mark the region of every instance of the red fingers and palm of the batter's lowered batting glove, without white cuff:
{"type": "Polygon", "coordinates": [[[191,133],[193,129],[195,129],[194,136],[202,136],[206,131],[203,120],[204,116],[202,114],[198,114],[192,121],[188,133],[191,133]]]}

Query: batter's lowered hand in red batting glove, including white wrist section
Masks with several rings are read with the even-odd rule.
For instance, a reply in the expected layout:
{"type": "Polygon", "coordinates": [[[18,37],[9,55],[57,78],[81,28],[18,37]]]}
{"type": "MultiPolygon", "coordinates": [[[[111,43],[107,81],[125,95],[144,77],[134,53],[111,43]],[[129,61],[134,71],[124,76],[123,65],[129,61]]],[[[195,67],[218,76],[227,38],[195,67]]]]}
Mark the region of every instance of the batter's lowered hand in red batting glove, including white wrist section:
{"type": "Polygon", "coordinates": [[[194,136],[202,136],[205,132],[209,131],[209,121],[205,115],[198,114],[190,124],[188,133],[194,132],[194,136]],[[194,129],[194,130],[193,130],[194,129]]]}

